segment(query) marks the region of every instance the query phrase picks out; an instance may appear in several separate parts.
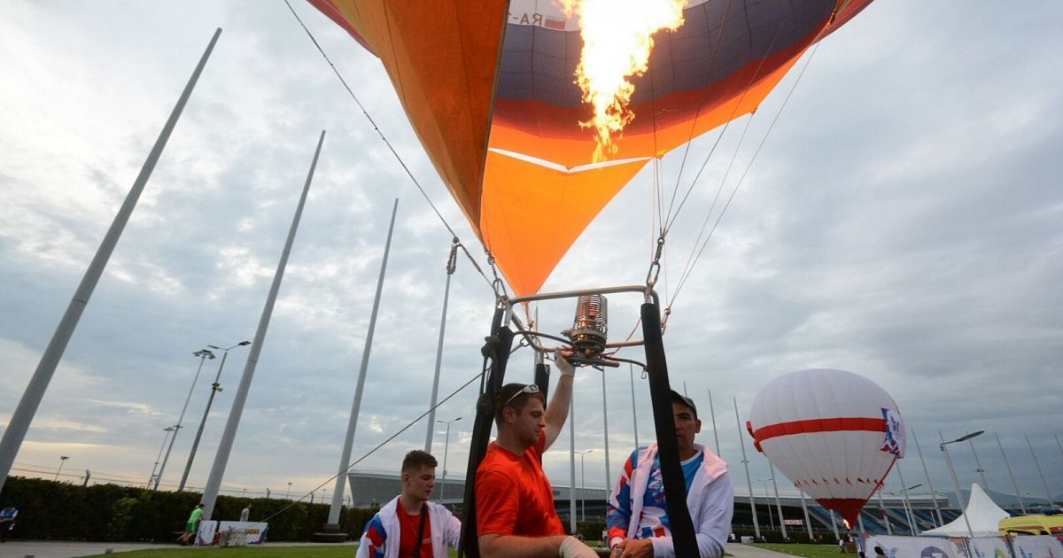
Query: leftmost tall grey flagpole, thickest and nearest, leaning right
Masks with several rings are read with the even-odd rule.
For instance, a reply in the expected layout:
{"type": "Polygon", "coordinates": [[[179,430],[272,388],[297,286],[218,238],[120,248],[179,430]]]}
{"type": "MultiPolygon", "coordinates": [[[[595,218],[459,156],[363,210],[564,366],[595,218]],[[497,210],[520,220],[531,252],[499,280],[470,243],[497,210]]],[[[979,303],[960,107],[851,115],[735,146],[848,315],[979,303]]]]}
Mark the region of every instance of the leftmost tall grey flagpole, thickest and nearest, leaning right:
{"type": "Polygon", "coordinates": [[[125,196],[125,201],[122,203],[121,208],[118,209],[118,215],[115,216],[111,227],[107,229],[103,241],[100,242],[100,248],[96,251],[96,256],[92,257],[88,269],[85,270],[85,275],[82,277],[81,284],[78,285],[78,290],[74,291],[73,299],[67,306],[58,326],[55,327],[55,333],[52,334],[52,339],[48,342],[44,354],[40,355],[37,369],[33,372],[33,376],[30,377],[30,384],[26,387],[22,399],[19,400],[15,412],[12,413],[11,420],[7,422],[3,439],[0,440],[0,489],[3,489],[3,485],[7,480],[7,474],[11,473],[15,456],[18,454],[19,447],[22,446],[22,440],[26,438],[27,430],[30,429],[33,416],[36,415],[37,407],[40,406],[40,400],[45,396],[48,384],[51,383],[55,368],[58,366],[60,359],[63,358],[63,352],[66,351],[67,343],[70,342],[70,337],[78,326],[78,321],[81,320],[81,315],[85,311],[85,306],[88,305],[88,300],[92,297],[92,291],[96,290],[96,284],[99,283],[100,276],[103,274],[103,269],[107,266],[111,254],[115,251],[118,239],[122,236],[122,231],[125,230],[125,223],[129,222],[130,216],[136,207],[136,202],[140,199],[140,193],[148,184],[148,179],[151,177],[151,172],[155,170],[155,164],[158,163],[158,158],[163,154],[163,149],[170,139],[170,134],[178,124],[178,119],[185,109],[185,104],[187,104],[188,98],[191,97],[196,82],[199,81],[199,77],[203,72],[206,61],[210,57],[210,52],[214,51],[214,46],[218,43],[220,35],[221,28],[218,28],[214,32],[214,36],[210,37],[210,43],[207,45],[206,51],[203,52],[203,56],[200,57],[199,64],[196,65],[192,77],[185,85],[181,97],[178,98],[178,104],[173,107],[173,112],[170,113],[170,118],[163,125],[163,131],[159,132],[158,139],[155,140],[154,147],[148,153],[148,159],[145,160],[144,166],[140,168],[140,173],[133,181],[133,187],[130,188],[130,192],[125,196]]]}

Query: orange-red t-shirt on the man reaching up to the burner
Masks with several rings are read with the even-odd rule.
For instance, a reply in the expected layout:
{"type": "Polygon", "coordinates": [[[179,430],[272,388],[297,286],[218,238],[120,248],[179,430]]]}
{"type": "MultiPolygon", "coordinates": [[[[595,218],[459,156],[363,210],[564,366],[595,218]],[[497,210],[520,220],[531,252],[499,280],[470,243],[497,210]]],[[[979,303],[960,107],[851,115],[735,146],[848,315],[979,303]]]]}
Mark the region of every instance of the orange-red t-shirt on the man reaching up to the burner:
{"type": "Polygon", "coordinates": [[[521,455],[491,442],[476,469],[477,535],[564,535],[554,509],[554,488],[542,472],[546,434],[521,455]]]}

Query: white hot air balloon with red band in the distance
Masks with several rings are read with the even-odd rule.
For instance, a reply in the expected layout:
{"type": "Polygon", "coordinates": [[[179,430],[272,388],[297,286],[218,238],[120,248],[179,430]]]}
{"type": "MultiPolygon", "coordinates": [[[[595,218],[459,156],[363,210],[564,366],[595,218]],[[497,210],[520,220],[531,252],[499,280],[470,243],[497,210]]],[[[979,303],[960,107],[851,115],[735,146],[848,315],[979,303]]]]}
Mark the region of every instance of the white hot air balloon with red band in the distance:
{"type": "Polygon", "coordinates": [[[746,428],[794,486],[849,525],[905,452],[897,404],[874,382],[843,370],[773,379],[754,398],[746,428]]]}

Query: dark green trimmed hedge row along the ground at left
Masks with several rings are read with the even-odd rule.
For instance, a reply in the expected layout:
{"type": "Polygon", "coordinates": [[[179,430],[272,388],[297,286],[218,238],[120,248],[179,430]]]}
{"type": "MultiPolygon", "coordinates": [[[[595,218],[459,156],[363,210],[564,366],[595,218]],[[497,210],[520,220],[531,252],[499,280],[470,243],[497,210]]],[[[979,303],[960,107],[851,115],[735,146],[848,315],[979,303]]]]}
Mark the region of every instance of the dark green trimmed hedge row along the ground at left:
{"type": "MultiPolygon", "coordinates": [[[[0,505],[11,503],[18,508],[15,536],[22,539],[170,541],[175,539],[176,531],[184,530],[188,514],[201,496],[198,492],[118,485],[82,487],[12,476],[0,492],[0,505]]],[[[252,520],[268,519],[271,541],[309,540],[328,518],[327,504],[218,496],[213,519],[237,520],[248,502],[252,505],[252,520]]],[[[343,508],[341,529],[357,537],[375,511],[343,508]]]]}

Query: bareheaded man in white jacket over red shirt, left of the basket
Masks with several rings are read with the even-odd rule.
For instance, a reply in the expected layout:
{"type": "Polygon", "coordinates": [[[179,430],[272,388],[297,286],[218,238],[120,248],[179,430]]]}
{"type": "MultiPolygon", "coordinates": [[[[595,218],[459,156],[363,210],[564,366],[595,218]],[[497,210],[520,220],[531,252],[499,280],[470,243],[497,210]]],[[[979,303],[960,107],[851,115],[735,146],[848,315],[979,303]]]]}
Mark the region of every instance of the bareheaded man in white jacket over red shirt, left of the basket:
{"type": "Polygon", "coordinates": [[[461,522],[428,502],[436,486],[436,458],[414,450],[402,461],[402,493],[366,524],[356,558],[446,558],[458,547],[461,522]]]}

